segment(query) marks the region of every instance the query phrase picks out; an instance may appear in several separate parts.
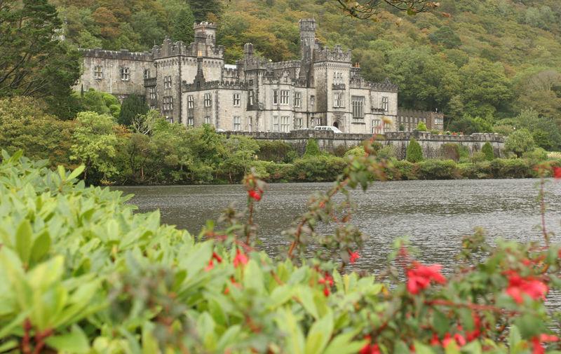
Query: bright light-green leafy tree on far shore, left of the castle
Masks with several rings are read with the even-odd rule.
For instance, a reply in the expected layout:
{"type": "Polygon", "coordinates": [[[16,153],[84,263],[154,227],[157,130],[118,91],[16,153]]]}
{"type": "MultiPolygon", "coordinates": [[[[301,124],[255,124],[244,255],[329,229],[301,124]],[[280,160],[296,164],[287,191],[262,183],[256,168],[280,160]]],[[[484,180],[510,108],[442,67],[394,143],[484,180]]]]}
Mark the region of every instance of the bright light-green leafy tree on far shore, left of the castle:
{"type": "Polygon", "coordinates": [[[86,166],[84,179],[93,172],[100,174],[100,179],[119,174],[113,163],[117,145],[113,127],[113,118],[107,114],[81,112],[76,117],[70,159],[86,166]]]}

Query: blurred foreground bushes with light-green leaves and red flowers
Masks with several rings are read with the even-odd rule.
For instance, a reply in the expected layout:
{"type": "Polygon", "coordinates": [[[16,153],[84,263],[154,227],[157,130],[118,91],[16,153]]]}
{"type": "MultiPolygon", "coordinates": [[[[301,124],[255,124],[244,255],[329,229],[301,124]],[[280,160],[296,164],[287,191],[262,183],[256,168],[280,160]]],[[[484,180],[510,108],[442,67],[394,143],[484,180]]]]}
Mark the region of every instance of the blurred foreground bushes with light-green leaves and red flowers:
{"type": "MultiPolygon", "coordinates": [[[[248,213],[227,211],[224,229],[209,222],[195,240],[161,225],[158,212],[133,214],[119,191],[86,188],[76,181],[82,169],[42,166],[19,154],[0,164],[0,353],[559,348],[550,334],[558,314],[544,299],[561,284],[560,248],[546,230],[546,247],[491,246],[478,231],[462,241],[448,278],[414,259],[403,240],[384,282],[346,268],[364,236],[339,212],[351,210],[350,189],[383,176],[386,161],[375,156],[357,156],[329,191],[311,197],[276,261],[255,250],[252,216],[266,198],[255,175],[244,179],[248,213]],[[320,222],[333,223],[333,233],[316,233],[320,222]]],[[[561,177],[561,168],[553,172],[561,177]]]]}

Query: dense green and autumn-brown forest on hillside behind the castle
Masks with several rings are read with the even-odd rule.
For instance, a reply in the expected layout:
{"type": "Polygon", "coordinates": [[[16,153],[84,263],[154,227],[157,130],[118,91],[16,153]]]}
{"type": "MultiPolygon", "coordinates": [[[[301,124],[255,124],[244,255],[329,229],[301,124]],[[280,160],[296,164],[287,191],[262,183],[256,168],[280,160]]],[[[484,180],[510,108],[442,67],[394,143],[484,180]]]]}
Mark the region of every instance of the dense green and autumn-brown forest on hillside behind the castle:
{"type": "Polygon", "coordinates": [[[381,7],[358,20],[335,0],[52,0],[67,41],[84,48],[149,50],[164,36],[189,42],[194,20],[219,24],[227,61],[252,42],[259,55],[299,55],[299,18],[318,38],[353,50],[367,79],[400,86],[400,106],[438,109],[459,132],[532,130],[561,149],[561,7],[556,0],[443,0],[405,15],[381,7]]]}

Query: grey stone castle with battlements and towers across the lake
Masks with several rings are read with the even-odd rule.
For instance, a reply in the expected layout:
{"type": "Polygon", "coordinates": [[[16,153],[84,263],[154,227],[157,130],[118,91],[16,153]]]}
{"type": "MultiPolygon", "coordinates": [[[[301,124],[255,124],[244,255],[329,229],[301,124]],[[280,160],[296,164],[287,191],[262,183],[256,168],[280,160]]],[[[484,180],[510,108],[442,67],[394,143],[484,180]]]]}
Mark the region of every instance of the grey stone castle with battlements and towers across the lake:
{"type": "MultiPolygon", "coordinates": [[[[350,50],[327,48],[316,39],[315,20],[300,20],[299,27],[300,60],[286,62],[257,57],[247,43],[243,59],[226,64],[224,48],[216,46],[217,27],[208,22],[194,25],[194,42],[188,46],[165,39],[151,53],[83,50],[76,89],[94,88],[121,99],[144,95],[149,107],[169,121],[207,123],[227,131],[289,132],[333,125],[343,132],[384,133],[397,130],[405,119],[411,122],[402,128],[414,128],[410,114],[398,114],[396,85],[388,79],[365,81],[350,50]],[[384,117],[392,123],[382,125],[384,117]]],[[[440,118],[420,114],[416,121],[442,130],[440,118]]]]}

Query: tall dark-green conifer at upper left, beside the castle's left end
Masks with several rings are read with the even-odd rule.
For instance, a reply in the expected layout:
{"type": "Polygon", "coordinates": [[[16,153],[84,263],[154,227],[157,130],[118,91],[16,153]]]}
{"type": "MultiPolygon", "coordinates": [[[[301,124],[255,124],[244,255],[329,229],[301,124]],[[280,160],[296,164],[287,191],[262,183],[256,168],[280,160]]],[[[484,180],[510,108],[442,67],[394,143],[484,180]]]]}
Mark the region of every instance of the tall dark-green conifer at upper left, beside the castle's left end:
{"type": "Polygon", "coordinates": [[[74,114],[81,57],[59,40],[61,26],[47,0],[0,1],[0,97],[41,97],[51,111],[74,114]]]}

